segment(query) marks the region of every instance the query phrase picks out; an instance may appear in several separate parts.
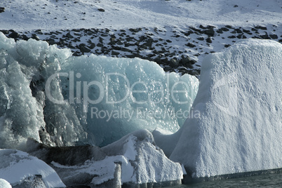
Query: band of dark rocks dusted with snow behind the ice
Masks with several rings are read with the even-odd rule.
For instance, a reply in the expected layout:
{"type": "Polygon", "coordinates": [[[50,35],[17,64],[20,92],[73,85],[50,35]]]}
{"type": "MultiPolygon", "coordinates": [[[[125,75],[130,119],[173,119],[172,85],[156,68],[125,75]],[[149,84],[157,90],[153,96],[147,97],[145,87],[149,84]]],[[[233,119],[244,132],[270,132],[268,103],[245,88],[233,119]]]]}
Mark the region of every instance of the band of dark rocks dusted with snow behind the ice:
{"type": "Polygon", "coordinates": [[[0,30],[15,41],[36,39],[70,48],[73,55],[107,55],[142,58],[157,62],[166,72],[200,74],[201,60],[209,53],[228,48],[239,39],[272,39],[282,43],[281,26],[232,27],[212,25],[180,28],[67,29],[44,32],[41,29],[17,32],[0,30]]]}

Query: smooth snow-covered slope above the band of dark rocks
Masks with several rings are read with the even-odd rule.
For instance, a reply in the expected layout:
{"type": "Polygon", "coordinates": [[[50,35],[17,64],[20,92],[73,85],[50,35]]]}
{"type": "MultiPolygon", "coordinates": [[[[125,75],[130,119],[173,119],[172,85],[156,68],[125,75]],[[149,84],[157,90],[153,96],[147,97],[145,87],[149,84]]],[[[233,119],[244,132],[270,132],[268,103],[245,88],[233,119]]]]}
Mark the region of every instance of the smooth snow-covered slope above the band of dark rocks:
{"type": "Polygon", "coordinates": [[[0,29],[281,25],[279,0],[1,1],[0,29]],[[102,8],[105,12],[98,11],[102,8]]]}

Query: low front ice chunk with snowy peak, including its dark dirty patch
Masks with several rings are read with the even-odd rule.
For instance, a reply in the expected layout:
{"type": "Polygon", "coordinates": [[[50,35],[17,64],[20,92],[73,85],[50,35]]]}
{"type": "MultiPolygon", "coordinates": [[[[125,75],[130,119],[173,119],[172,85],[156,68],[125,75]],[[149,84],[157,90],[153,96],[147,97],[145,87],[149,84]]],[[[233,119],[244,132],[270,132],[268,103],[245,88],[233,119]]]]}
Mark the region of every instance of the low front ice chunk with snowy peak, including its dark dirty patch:
{"type": "Polygon", "coordinates": [[[181,184],[183,178],[180,163],[166,157],[149,130],[136,130],[102,148],[48,147],[28,140],[27,150],[48,163],[67,186],[165,186],[181,184]]]}

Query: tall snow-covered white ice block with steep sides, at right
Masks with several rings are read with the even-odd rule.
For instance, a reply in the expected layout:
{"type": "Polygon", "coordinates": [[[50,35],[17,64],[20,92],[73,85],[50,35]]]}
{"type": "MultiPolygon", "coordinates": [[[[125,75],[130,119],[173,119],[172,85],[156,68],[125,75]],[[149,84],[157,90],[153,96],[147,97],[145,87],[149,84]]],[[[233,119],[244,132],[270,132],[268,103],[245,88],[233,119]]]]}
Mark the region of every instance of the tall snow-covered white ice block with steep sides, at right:
{"type": "Polygon", "coordinates": [[[194,109],[170,156],[192,177],[282,167],[282,45],[243,40],[208,56],[194,109]]]}

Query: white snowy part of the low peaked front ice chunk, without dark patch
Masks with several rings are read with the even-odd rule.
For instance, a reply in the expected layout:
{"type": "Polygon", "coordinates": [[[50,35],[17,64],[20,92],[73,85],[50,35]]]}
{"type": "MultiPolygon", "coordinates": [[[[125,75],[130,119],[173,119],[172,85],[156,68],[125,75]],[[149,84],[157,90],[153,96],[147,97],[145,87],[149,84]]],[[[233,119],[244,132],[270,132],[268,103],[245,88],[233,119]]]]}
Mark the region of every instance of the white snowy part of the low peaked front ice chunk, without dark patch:
{"type": "Polygon", "coordinates": [[[106,184],[180,184],[183,171],[180,163],[170,161],[148,130],[136,130],[120,140],[102,147],[107,157],[102,161],[88,160],[81,166],[52,163],[67,185],[106,184]]]}

